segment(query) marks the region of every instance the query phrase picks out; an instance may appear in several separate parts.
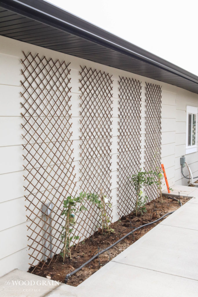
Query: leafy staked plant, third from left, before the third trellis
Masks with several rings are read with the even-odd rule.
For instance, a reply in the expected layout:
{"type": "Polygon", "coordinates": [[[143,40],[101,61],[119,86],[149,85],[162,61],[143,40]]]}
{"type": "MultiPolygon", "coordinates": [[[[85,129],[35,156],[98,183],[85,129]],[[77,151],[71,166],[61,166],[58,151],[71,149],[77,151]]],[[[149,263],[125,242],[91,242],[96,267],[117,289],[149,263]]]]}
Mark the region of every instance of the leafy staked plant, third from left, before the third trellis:
{"type": "MultiPolygon", "coordinates": [[[[140,168],[141,170],[141,168],[140,168]]],[[[151,186],[155,183],[155,176],[153,171],[139,171],[136,174],[133,174],[131,179],[128,177],[129,182],[134,186],[135,192],[136,192],[136,205],[135,205],[135,211],[136,216],[137,212],[140,210],[142,214],[142,198],[143,198],[143,187],[151,186]]],[[[145,203],[147,196],[145,196],[143,203],[145,203]]],[[[145,204],[144,204],[145,205],[145,204]]],[[[143,209],[145,209],[145,206],[143,206],[143,209]]]]}

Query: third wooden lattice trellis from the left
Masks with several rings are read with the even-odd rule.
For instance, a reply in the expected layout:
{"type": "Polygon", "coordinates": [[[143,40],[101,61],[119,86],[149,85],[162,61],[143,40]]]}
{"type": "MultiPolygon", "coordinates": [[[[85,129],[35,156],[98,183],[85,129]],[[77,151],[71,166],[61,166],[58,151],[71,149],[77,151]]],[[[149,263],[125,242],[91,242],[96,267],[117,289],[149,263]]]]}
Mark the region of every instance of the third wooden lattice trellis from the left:
{"type": "Polygon", "coordinates": [[[119,80],[118,122],[118,215],[132,212],[134,187],[129,183],[141,165],[141,83],[132,78],[119,80]]]}

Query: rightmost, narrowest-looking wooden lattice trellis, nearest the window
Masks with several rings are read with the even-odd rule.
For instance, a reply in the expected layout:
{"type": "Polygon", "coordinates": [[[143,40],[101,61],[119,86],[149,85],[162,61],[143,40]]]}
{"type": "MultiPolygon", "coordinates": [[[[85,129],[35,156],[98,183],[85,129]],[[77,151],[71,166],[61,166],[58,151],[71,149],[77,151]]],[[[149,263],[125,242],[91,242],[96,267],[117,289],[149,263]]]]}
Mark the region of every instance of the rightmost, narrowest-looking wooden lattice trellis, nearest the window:
{"type": "MultiPolygon", "coordinates": [[[[144,169],[161,168],[161,86],[146,83],[145,91],[145,161],[144,169]]],[[[157,196],[157,186],[145,189],[148,200],[157,196]]]]}

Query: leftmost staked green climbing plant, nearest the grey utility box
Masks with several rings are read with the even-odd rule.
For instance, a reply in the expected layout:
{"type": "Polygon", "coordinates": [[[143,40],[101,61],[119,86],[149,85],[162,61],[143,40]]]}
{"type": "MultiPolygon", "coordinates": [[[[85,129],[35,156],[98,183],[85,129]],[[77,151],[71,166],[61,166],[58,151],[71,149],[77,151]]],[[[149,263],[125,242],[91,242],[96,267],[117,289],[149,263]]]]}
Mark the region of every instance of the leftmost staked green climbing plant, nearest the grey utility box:
{"type": "Polygon", "coordinates": [[[65,255],[71,257],[71,241],[72,239],[78,239],[79,236],[71,235],[72,231],[74,230],[73,226],[75,224],[75,214],[77,212],[85,211],[87,208],[84,206],[85,199],[96,199],[98,195],[95,194],[86,194],[85,192],[81,192],[80,196],[73,197],[68,196],[63,201],[63,211],[61,215],[64,215],[66,217],[65,225],[62,226],[62,233],[61,233],[61,239],[64,243],[63,252],[61,252],[61,255],[63,257],[63,262],[65,260],[65,255]],[[77,211],[77,204],[80,203],[79,211],[77,211]]]}

